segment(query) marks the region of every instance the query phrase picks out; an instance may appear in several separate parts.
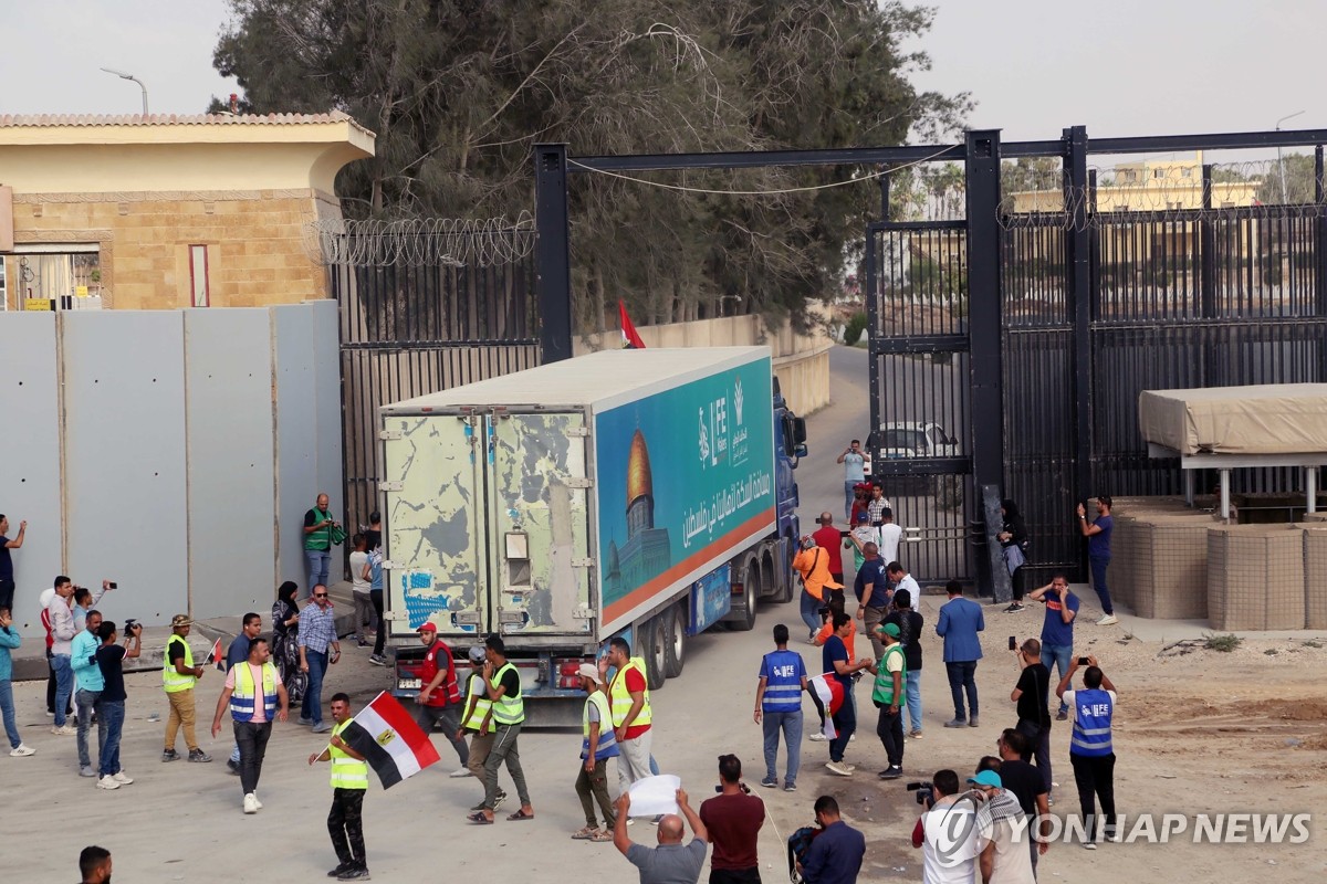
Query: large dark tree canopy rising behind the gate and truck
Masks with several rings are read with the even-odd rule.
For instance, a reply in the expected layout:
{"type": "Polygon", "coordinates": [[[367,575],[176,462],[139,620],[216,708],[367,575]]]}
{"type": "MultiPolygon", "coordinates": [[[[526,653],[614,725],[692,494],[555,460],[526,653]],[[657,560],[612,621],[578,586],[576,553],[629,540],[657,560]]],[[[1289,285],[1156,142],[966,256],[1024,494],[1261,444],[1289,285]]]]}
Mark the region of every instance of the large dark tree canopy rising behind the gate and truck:
{"type": "MultiPolygon", "coordinates": [[[[959,125],[902,48],[932,12],[877,0],[231,0],[214,64],[252,113],[340,109],[377,133],[348,216],[515,216],[536,142],[572,155],[901,143],[959,125]]],[[[873,170],[573,176],[580,327],[626,297],[667,322],[778,315],[837,290],[873,170]],[[733,195],[705,191],[762,191],[733,195]],[[767,191],[779,191],[770,193],[767,191]]]]}

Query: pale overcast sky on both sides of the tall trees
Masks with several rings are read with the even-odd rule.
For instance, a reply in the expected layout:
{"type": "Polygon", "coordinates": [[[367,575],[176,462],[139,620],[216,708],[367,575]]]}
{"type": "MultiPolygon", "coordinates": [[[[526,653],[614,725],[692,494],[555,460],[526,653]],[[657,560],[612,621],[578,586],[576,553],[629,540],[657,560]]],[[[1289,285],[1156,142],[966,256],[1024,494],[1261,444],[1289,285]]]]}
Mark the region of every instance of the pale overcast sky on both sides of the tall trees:
{"type": "MultiPolygon", "coordinates": [[[[0,0],[0,114],[202,113],[236,90],[212,69],[226,0],[0,0]]],[[[1327,127],[1327,3],[1306,0],[929,0],[906,45],[918,87],[969,91],[973,127],[1005,140],[1327,127]]]]}

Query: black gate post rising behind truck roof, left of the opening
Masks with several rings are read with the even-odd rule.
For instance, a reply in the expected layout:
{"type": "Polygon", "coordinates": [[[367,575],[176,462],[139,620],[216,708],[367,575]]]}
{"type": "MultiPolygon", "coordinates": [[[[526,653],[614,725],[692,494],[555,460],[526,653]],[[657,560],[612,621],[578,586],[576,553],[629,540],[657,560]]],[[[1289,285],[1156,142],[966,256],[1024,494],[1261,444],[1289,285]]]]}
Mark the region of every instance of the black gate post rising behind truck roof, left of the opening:
{"type": "Polygon", "coordinates": [[[540,360],[559,362],[572,355],[567,144],[535,144],[535,229],[540,360]]]}

